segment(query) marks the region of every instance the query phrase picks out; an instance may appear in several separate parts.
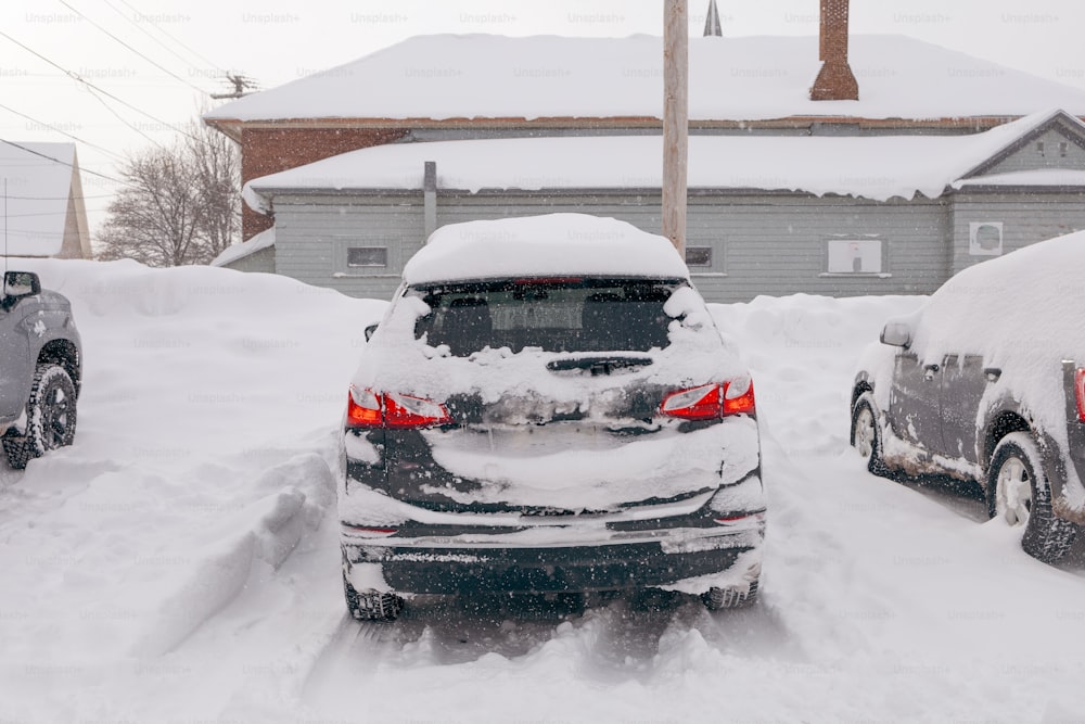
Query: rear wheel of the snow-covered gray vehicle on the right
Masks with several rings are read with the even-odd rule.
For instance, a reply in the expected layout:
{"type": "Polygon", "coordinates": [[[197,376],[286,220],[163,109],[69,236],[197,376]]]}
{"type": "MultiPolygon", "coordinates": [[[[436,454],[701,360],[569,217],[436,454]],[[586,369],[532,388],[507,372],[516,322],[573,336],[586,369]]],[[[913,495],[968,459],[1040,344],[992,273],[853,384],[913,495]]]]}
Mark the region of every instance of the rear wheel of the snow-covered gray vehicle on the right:
{"type": "Polygon", "coordinates": [[[1012,432],[998,443],[987,472],[987,508],[992,518],[1022,530],[1021,547],[1050,563],[1073,545],[1077,526],[1051,509],[1051,488],[1044,477],[1036,443],[1012,432]]]}

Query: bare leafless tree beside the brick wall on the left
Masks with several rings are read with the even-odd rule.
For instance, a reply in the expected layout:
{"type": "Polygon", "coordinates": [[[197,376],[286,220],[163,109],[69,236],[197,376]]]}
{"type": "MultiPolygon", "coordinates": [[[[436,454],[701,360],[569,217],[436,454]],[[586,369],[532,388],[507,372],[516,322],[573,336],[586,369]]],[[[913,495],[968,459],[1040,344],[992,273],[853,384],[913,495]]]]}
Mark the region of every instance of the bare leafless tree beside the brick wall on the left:
{"type": "Polygon", "coordinates": [[[207,264],[241,229],[240,162],[225,136],[190,124],[182,140],[128,158],[98,234],[100,259],[207,264]]]}

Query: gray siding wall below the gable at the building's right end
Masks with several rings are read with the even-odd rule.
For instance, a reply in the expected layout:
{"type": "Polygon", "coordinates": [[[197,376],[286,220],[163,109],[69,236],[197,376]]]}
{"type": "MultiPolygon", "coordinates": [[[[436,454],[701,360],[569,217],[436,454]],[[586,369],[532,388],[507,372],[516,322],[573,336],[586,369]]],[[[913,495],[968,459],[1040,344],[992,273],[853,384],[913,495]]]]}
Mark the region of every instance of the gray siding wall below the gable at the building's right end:
{"type": "Polygon", "coordinates": [[[971,224],[1000,223],[1003,254],[1044,239],[1085,230],[1085,194],[1023,191],[958,192],[953,200],[953,272],[990,256],[969,253],[971,224]]]}

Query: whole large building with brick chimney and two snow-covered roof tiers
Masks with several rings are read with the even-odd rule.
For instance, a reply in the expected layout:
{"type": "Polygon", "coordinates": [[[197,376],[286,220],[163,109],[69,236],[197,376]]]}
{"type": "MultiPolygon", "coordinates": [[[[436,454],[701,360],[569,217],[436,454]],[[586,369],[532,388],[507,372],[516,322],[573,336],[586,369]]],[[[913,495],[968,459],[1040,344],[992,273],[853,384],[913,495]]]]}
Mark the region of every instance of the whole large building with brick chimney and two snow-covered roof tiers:
{"type": "MultiPolygon", "coordinates": [[[[244,236],[276,227],[258,263],[219,263],[381,296],[454,220],[585,211],[658,232],[662,56],[649,36],[425,36],[216,109],[205,120],[242,147],[244,236]]],[[[957,224],[999,229],[1003,250],[1082,228],[1076,177],[1051,175],[1081,170],[1081,90],[848,37],[840,0],[820,39],[694,38],[689,56],[687,247],[710,299],[922,293],[980,256],[955,251],[957,224]],[[1030,115],[1044,109],[1062,112],[1030,115]],[[1004,169],[1036,174],[987,182],[1004,169]],[[1036,193],[1019,208],[1043,220],[992,215],[1036,193]],[[842,254],[861,258],[841,270],[842,254]]]]}

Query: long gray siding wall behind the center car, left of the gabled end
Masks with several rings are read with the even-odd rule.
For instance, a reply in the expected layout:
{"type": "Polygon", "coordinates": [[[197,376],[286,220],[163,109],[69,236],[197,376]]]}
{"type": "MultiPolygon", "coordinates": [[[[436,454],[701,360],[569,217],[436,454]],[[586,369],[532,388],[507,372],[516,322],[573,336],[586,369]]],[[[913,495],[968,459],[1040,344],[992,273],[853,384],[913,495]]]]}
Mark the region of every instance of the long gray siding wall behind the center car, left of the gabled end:
{"type": "MultiPolygon", "coordinates": [[[[399,203],[357,198],[276,199],[277,270],[352,296],[387,299],[404,263],[421,247],[421,192],[399,203]],[[387,268],[348,268],[352,245],[388,247],[387,268]]],[[[660,233],[658,193],[437,195],[437,225],[559,212],[612,216],[660,233]]],[[[693,193],[687,246],[712,249],[693,282],[712,302],[760,294],[832,296],[928,294],[948,277],[949,213],[944,201],[886,203],[804,194],[693,193]],[[830,275],[827,242],[882,241],[882,274],[830,275]]]]}

